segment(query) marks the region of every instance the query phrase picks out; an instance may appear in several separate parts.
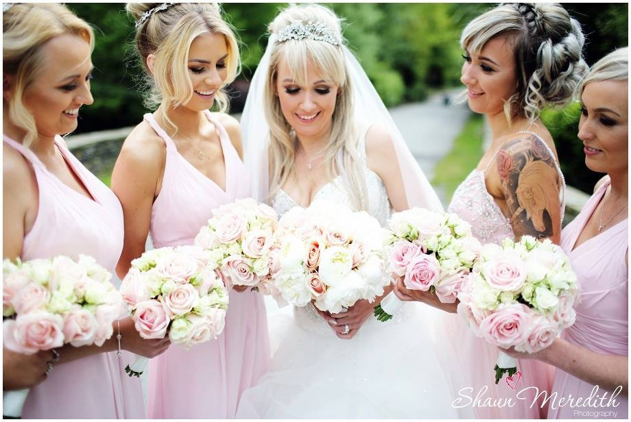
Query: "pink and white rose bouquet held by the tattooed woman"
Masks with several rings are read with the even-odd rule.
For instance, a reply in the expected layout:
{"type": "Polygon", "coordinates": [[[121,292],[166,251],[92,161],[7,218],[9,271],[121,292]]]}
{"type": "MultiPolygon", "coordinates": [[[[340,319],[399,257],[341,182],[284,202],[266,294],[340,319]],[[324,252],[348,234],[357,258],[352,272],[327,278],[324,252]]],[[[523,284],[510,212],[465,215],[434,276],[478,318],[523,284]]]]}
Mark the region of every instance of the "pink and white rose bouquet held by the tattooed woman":
{"type": "MultiPolygon", "coordinates": [[[[412,208],[393,214],[388,227],[390,271],[404,277],[409,290],[429,290],[442,303],[454,303],[481,249],[471,225],[453,213],[412,208]]],[[[402,305],[390,293],[374,315],[388,321],[402,305]]]]}

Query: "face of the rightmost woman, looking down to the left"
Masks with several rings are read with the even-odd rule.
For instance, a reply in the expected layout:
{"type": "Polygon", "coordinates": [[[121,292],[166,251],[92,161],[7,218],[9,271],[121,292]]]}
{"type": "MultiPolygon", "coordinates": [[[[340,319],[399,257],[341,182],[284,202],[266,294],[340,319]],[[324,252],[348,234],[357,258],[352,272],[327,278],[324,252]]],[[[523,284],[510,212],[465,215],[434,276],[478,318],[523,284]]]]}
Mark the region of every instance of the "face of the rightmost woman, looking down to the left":
{"type": "Polygon", "coordinates": [[[628,81],[589,82],[581,95],[578,138],[585,164],[599,173],[628,171],[628,81]]]}

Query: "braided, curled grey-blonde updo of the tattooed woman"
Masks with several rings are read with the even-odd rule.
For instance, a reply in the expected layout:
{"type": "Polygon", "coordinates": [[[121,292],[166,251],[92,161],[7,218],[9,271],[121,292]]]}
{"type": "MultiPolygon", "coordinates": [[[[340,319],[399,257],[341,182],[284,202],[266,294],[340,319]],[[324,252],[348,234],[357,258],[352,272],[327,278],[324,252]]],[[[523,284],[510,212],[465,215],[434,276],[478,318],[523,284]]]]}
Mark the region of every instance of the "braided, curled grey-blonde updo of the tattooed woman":
{"type": "Polygon", "coordinates": [[[580,24],[558,3],[503,3],[473,19],[460,45],[479,54],[486,43],[507,37],[514,48],[517,89],[504,103],[509,123],[530,122],[546,107],[569,103],[588,67],[580,24]]]}

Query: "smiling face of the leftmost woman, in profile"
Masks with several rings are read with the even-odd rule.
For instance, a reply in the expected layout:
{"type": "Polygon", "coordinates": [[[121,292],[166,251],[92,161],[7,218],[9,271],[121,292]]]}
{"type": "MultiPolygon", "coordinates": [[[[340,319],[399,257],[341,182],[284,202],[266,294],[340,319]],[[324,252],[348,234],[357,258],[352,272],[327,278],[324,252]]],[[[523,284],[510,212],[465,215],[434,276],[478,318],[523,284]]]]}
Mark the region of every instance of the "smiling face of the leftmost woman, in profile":
{"type": "Polygon", "coordinates": [[[40,69],[25,88],[23,103],[38,134],[51,138],[75,130],[79,109],[93,103],[91,51],[83,38],[71,34],[51,38],[41,48],[40,69]]]}

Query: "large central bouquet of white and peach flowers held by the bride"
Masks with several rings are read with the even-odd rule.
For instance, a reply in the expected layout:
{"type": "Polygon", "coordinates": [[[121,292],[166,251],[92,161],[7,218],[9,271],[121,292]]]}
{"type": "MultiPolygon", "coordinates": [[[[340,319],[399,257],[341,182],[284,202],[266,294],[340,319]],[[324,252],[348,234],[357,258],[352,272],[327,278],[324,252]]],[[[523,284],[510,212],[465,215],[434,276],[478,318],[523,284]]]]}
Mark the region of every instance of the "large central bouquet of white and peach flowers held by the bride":
{"type": "Polygon", "coordinates": [[[295,306],[333,314],[359,299],[374,301],[390,284],[386,232],[367,212],[329,201],[294,207],[278,222],[271,284],[295,306]]]}

